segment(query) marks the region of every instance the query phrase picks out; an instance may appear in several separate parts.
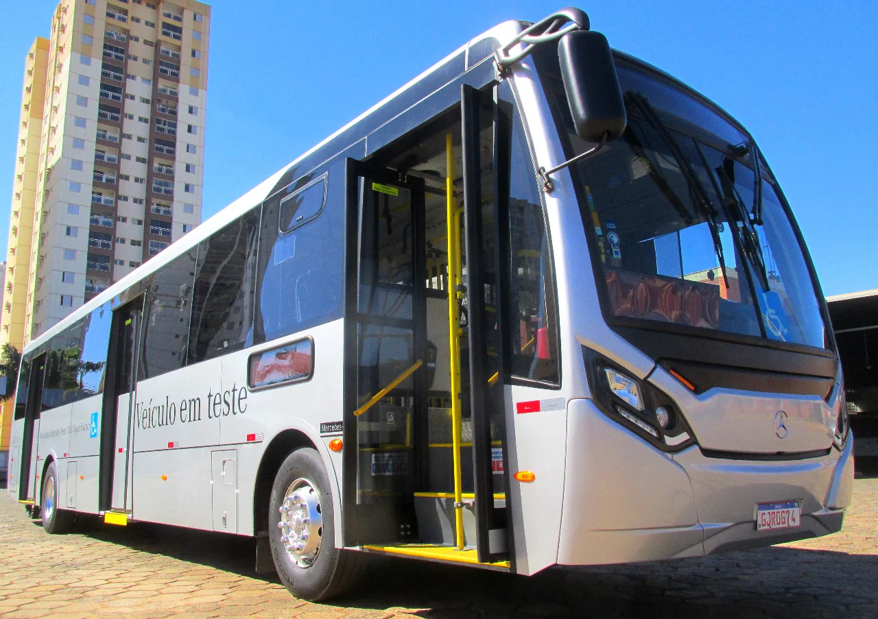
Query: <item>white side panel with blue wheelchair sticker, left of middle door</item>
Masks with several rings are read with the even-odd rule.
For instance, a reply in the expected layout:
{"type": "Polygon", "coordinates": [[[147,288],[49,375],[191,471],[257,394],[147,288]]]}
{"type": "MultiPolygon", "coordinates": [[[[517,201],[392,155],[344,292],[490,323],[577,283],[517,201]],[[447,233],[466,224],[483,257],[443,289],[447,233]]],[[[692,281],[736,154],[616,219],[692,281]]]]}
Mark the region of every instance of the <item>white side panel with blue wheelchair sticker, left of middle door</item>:
{"type": "Polygon", "coordinates": [[[76,476],[68,488],[68,496],[76,495],[76,511],[97,514],[97,454],[100,448],[101,407],[103,395],[75,402],[70,414],[70,446],[68,457],[76,458],[76,476]]]}

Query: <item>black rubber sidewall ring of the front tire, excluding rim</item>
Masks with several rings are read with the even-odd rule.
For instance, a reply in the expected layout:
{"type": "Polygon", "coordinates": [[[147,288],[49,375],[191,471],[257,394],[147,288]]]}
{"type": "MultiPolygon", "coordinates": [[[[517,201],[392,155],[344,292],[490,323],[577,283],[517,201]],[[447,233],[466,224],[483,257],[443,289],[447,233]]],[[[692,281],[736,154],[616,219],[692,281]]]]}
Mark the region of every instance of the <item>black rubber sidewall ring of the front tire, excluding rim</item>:
{"type": "Polygon", "coordinates": [[[284,586],[303,600],[320,601],[335,593],[343,551],[335,548],[335,501],[330,488],[320,454],[312,448],[301,448],[287,456],[277,471],[274,486],[271,488],[268,523],[271,555],[277,575],[284,586]],[[280,541],[282,531],[277,527],[277,522],[280,521],[278,509],[284,502],[284,494],[292,482],[299,478],[310,481],[320,494],[320,514],[323,520],[320,553],[313,565],[307,568],[301,568],[292,562],[284,543],[280,541]]]}

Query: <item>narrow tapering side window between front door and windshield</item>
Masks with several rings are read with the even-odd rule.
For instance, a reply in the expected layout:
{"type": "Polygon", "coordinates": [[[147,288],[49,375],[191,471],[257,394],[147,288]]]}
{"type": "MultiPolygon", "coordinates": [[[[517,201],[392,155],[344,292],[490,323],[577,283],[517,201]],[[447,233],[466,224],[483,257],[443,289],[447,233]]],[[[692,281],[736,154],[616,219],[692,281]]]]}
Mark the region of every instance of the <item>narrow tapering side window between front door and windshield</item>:
{"type": "Polygon", "coordinates": [[[512,124],[509,187],[509,335],[516,377],[558,384],[558,313],[545,213],[522,119],[512,124]]]}

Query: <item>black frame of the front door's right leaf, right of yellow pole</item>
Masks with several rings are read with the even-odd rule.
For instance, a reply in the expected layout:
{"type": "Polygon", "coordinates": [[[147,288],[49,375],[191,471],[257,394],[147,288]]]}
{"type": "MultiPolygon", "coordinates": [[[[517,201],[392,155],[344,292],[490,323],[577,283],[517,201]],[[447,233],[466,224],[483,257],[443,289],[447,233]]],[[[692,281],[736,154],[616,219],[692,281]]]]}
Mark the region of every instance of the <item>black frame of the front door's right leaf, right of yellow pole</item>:
{"type": "MultiPolygon", "coordinates": [[[[508,384],[509,362],[504,351],[507,339],[508,292],[505,282],[508,274],[509,256],[509,139],[510,114],[502,108],[497,97],[497,86],[493,90],[477,90],[468,84],[461,85],[461,127],[463,132],[464,164],[464,244],[466,248],[467,303],[469,307],[470,355],[470,405],[472,415],[472,471],[475,491],[476,548],[479,563],[493,563],[512,558],[515,553],[512,537],[512,510],[497,507],[493,500],[493,455],[491,441],[491,412],[500,414],[503,422],[503,484],[507,500],[510,495],[507,432],[507,402],[505,385],[508,384]],[[485,231],[482,227],[482,187],[481,161],[479,148],[480,114],[486,107],[486,97],[493,91],[493,234],[494,243],[494,281],[487,280],[487,274],[479,260],[483,254],[485,231]],[[475,258],[475,259],[473,259],[475,258]],[[485,320],[485,285],[493,284],[497,299],[497,358],[499,370],[497,378],[489,376],[487,356],[487,330],[485,320]],[[493,389],[500,389],[499,395],[489,398],[492,388],[489,381],[496,380],[493,389]],[[476,385],[483,385],[477,388],[476,385]]],[[[462,394],[463,395],[463,394],[462,394]]],[[[508,506],[508,502],[505,502],[508,506]]]]}

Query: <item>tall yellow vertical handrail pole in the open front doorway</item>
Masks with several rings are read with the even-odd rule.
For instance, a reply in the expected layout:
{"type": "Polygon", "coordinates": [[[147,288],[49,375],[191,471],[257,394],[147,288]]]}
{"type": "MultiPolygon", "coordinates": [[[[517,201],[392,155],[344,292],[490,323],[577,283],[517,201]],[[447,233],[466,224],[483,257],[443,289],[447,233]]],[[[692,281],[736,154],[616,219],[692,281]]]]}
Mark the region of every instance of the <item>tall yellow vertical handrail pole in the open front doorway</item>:
{"type": "Polygon", "coordinates": [[[455,161],[451,133],[445,135],[445,212],[448,227],[448,335],[451,366],[451,452],[454,462],[454,530],[457,550],[464,550],[464,506],[460,472],[460,320],[457,284],[462,283],[460,265],[460,223],[454,198],[455,161]]]}

